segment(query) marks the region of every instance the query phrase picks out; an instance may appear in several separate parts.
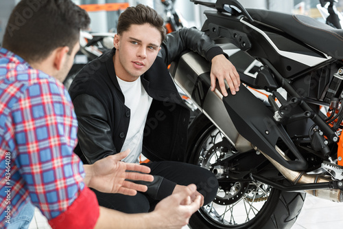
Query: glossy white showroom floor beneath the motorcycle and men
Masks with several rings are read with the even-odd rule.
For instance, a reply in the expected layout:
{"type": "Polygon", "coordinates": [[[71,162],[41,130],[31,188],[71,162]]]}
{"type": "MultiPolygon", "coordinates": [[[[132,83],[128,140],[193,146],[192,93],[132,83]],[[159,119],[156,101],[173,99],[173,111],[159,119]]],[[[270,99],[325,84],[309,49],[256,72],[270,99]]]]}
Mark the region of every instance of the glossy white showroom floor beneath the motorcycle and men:
{"type": "MultiPolygon", "coordinates": [[[[342,228],[343,203],[333,203],[307,195],[303,210],[292,229],[342,228]]],[[[187,229],[188,226],[182,229],[187,229]]],[[[29,229],[50,229],[47,219],[36,208],[34,220],[29,229]]],[[[196,229],[196,228],[194,228],[196,229]]]]}

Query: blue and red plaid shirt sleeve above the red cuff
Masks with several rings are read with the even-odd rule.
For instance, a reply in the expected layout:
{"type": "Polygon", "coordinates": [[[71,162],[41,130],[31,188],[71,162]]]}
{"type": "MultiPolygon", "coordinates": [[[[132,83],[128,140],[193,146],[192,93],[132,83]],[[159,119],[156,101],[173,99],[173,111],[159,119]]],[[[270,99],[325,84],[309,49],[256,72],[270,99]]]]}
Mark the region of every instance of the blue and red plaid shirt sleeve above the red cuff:
{"type": "Polygon", "coordinates": [[[78,122],[69,94],[51,78],[40,79],[25,89],[12,117],[16,164],[29,197],[47,219],[58,217],[84,189],[83,164],[73,153],[78,122]]]}

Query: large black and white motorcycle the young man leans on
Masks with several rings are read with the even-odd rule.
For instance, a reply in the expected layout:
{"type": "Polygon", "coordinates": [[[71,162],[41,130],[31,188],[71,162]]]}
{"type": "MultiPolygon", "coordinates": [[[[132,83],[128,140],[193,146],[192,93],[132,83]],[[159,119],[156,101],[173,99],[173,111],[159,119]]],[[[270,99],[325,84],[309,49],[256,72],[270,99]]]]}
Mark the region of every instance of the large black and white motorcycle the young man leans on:
{"type": "Polygon", "coordinates": [[[291,228],[306,195],[342,202],[343,30],[237,0],[190,1],[210,8],[202,31],[230,56],[242,85],[235,96],[211,91],[211,64],[194,52],[169,68],[201,111],[184,161],[220,184],[189,226],[291,228]]]}

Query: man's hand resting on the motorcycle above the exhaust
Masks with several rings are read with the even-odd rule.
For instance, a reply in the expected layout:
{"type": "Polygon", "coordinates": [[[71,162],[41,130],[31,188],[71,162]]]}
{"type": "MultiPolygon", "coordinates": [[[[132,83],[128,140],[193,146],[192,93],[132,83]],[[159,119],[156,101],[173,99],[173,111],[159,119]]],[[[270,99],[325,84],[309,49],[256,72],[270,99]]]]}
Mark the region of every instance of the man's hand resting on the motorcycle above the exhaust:
{"type": "Polygon", "coordinates": [[[235,66],[233,66],[233,64],[228,61],[224,55],[217,55],[213,57],[210,76],[211,91],[215,90],[216,79],[218,80],[220,90],[224,96],[228,96],[224,80],[226,80],[226,83],[228,83],[231,94],[235,95],[236,91],[239,91],[239,86],[241,84],[241,80],[239,80],[239,74],[235,66]]]}

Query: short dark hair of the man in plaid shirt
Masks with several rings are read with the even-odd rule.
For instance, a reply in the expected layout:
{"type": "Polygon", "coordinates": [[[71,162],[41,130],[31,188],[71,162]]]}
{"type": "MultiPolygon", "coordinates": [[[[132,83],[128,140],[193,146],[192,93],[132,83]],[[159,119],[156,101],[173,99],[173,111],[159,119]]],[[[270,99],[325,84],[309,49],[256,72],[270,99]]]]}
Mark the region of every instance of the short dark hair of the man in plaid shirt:
{"type": "Polygon", "coordinates": [[[58,47],[69,53],[91,19],[71,0],[21,0],[10,15],[3,47],[25,61],[41,61],[58,47]]]}

